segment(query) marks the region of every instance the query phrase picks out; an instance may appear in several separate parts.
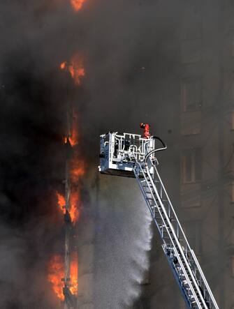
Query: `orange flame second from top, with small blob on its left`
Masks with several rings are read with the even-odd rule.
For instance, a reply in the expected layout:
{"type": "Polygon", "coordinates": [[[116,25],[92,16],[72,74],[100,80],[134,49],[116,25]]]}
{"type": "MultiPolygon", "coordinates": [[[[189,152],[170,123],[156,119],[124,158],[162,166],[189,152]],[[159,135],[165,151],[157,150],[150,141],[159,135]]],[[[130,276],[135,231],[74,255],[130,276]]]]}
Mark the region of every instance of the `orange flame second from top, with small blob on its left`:
{"type": "Polygon", "coordinates": [[[76,85],[81,84],[81,78],[85,76],[85,67],[79,54],[75,54],[69,63],[60,63],[60,68],[70,73],[76,85]]]}

